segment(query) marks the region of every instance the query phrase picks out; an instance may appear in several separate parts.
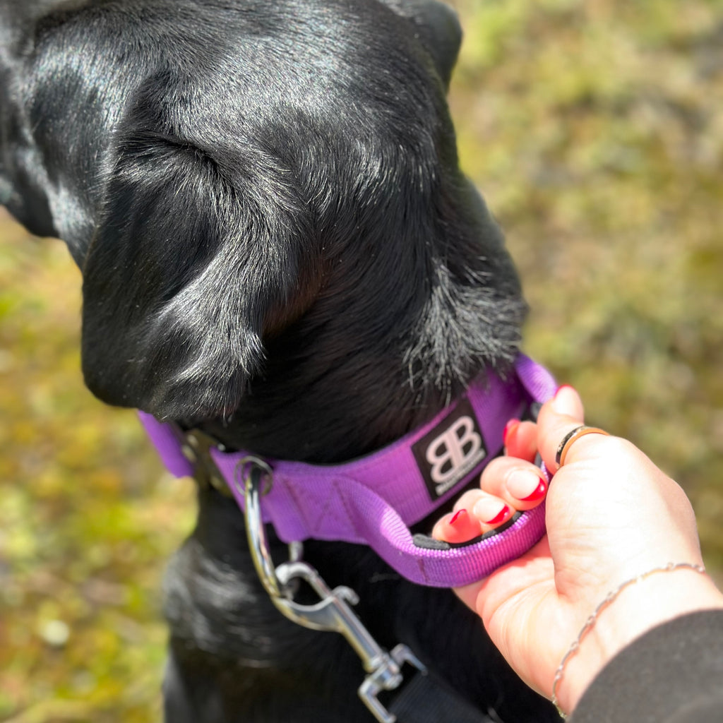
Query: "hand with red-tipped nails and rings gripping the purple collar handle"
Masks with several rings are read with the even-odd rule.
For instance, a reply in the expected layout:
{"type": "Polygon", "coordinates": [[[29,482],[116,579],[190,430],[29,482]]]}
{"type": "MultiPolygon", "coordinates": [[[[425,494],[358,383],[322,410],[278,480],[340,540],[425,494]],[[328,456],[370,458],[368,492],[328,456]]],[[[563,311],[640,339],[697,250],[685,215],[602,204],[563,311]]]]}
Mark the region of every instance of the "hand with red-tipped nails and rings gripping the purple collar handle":
{"type": "MultiPolygon", "coordinates": [[[[532,463],[536,452],[547,469],[557,470],[557,446],[582,422],[580,398],[562,387],[542,407],[537,424],[508,425],[508,456],[487,466],[480,489],[466,492],[432,534],[462,542],[504,523],[514,510],[538,505],[547,485],[532,463]]],[[[560,661],[609,592],[669,562],[702,560],[683,490],[617,437],[586,435],[568,447],[565,466],[549,485],[546,524],[547,535],[526,555],[456,592],[482,617],[518,675],[550,697],[560,661]]],[[[562,709],[571,711],[597,672],[634,638],[711,607],[723,607],[723,594],[687,568],[621,591],[566,664],[557,688],[562,709]]]]}

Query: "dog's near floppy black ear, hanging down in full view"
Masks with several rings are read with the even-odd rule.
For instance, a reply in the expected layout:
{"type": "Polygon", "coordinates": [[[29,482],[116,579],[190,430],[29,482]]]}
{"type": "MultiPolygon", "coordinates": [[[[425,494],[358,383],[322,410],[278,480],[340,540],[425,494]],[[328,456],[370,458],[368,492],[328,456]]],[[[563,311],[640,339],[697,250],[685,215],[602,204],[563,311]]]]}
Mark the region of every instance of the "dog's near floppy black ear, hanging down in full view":
{"type": "Polygon", "coordinates": [[[85,382],[159,419],[231,414],[263,333],[296,313],[311,234],[278,158],[250,144],[218,158],[142,127],[121,134],[85,258],[85,382]]]}

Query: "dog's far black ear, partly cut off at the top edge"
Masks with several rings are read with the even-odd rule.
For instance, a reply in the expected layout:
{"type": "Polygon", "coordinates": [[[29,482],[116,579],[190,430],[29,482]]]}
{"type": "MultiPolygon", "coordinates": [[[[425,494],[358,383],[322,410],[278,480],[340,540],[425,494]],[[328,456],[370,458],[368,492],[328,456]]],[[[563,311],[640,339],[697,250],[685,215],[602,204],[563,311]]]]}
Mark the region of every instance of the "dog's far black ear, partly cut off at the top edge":
{"type": "Polygon", "coordinates": [[[437,0],[382,1],[414,23],[420,40],[435,61],[445,90],[448,89],[462,44],[462,26],[457,13],[437,0]]]}

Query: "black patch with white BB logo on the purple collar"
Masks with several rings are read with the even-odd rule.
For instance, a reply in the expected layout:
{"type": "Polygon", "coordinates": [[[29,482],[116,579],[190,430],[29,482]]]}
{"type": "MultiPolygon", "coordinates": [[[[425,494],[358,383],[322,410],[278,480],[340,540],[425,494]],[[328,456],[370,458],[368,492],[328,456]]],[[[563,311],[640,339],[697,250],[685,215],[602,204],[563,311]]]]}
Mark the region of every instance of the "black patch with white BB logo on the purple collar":
{"type": "Polygon", "coordinates": [[[448,492],[487,457],[479,423],[466,399],[412,450],[432,499],[448,492]]]}

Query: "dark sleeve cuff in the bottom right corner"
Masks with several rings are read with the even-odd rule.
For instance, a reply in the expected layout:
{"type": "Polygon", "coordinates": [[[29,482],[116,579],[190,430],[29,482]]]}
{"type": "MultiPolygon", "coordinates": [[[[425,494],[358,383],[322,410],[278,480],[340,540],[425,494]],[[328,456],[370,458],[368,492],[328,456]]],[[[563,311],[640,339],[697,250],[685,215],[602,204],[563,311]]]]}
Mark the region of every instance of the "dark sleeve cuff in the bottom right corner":
{"type": "Polygon", "coordinates": [[[649,630],[591,683],[570,723],[721,723],[723,610],[649,630]]]}

